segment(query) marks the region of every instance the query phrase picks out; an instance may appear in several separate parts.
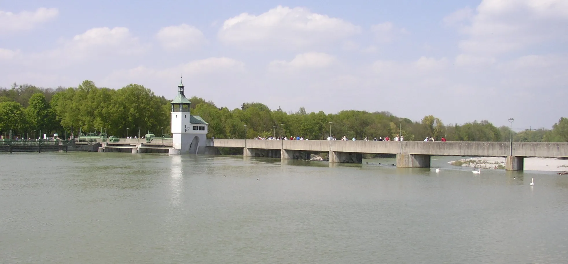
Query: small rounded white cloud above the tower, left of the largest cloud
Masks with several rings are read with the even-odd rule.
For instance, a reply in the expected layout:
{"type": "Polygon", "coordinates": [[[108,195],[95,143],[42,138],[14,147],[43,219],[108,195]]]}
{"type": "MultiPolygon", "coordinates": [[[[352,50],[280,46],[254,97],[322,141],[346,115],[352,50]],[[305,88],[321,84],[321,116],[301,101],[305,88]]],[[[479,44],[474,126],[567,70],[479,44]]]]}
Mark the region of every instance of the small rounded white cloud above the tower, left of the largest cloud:
{"type": "Polygon", "coordinates": [[[163,27],[156,34],[156,38],[162,47],[168,50],[195,49],[206,42],[200,30],[187,24],[163,27]]]}

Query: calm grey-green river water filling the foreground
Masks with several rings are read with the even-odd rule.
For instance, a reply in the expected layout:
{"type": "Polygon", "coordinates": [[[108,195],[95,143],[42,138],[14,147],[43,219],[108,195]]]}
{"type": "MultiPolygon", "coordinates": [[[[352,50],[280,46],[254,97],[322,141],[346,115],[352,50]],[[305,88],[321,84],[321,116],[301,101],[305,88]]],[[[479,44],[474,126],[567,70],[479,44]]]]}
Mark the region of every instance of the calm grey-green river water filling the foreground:
{"type": "Polygon", "coordinates": [[[452,159],[1,154],[0,263],[568,263],[568,177],[452,159]]]}

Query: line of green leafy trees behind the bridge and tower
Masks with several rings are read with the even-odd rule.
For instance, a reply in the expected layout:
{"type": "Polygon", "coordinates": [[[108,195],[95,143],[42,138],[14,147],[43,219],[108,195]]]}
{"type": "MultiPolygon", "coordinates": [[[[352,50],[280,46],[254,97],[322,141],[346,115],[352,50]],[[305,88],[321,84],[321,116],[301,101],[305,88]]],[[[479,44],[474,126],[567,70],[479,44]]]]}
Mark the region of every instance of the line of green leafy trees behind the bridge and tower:
{"type": "MultiPolygon", "coordinates": [[[[190,98],[191,114],[208,123],[208,137],[248,139],[269,136],[301,136],[323,140],[330,135],[362,140],[368,137],[394,138],[402,134],[407,141],[434,137],[448,141],[513,141],[568,142],[568,119],[561,118],[552,129],[521,132],[509,127],[495,127],[486,120],[445,125],[435,116],[413,121],[387,111],[344,110],[337,114],[323,111],[308,113],[304,107],[285,112],[280,107],[270,110],[262,103],[243,103],[229,110],[202,98],[190,98]],[[245,127],[246,125],[246,127],[245,127]]],[[[118,90],[97,87],[83,81],[77,87],[43,89],[32,85],[0,88],[0,133],[20,138],[42,134],[77,135],[106,132],[118,137],[152,132],[170,133],[170,100],[158,97],[142,85],[130,84],[118,90]]]]}

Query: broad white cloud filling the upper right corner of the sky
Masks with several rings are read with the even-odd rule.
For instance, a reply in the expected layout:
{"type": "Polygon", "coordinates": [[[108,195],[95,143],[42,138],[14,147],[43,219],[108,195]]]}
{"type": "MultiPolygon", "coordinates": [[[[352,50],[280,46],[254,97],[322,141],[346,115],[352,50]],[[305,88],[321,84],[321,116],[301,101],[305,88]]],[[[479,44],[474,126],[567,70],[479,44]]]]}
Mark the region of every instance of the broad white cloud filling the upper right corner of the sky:
{"type": "Polygon", "coordinates": [[[568,40],[568,1],[483,0],[477,14],[458,10],[445,23],[467,22],[460,27],[466,53],[497,55],[533,47],[549,41],[568,40]]]}

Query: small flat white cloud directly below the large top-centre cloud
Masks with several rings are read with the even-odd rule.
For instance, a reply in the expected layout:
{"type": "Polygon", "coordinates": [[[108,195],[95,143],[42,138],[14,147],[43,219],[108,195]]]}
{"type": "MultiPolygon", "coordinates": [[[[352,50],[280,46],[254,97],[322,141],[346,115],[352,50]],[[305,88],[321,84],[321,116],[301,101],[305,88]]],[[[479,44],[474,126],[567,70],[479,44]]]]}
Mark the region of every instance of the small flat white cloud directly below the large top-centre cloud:
{"type": "Polygon", "coordinates": [[[326,53],[307,52],[298,54],[291,61],[272,61],[270,69],[321,69],[332,65],[335,57],[326,53]]]}

